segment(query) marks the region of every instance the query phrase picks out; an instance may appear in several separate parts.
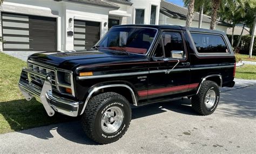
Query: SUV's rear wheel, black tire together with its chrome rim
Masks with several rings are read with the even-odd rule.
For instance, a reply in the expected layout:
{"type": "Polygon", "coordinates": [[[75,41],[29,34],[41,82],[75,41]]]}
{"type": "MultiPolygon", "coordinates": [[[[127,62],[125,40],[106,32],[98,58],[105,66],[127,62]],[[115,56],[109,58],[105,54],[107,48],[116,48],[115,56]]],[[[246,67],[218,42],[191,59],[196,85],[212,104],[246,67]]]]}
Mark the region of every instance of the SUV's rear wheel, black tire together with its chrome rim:
{"type": "Polygon", "coordinates": [[[200,115],[212,114],[218,106],[219,86],[213,81],[204,81],[197,95],[192,96],[192,109],[200,115]]]}

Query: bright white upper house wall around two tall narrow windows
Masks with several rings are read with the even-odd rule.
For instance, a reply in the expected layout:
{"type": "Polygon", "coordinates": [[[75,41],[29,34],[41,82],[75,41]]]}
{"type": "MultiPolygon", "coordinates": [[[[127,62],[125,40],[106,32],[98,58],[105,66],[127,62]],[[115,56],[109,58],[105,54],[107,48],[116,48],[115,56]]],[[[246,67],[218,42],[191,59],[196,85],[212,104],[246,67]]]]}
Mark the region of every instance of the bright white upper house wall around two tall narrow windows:
{"type": "Polygon", "coordinates": [[[159,22],[160,0],[131,0],[133,5],[128,8],[127,12],[131,13],[131,17],[127,17],[127,23],[135,23],[135,9],[144,9],[144,24],[150,24],[151,5],[157,6],[156,25],[159,22]]]}

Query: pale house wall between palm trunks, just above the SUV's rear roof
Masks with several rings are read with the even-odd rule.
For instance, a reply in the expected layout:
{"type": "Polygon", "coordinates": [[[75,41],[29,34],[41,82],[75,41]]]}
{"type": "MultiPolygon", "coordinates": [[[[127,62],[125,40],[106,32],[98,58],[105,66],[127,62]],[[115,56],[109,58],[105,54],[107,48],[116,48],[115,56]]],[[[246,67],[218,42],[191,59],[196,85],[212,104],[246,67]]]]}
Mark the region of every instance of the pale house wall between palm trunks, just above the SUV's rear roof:
{"type": "MultiPolygon", "coordinates": [[[[170,17],[163,15],[163,13],[160,13],[159,25],[163,25],[163,24],[185,26],[186,20],[170,18],[170,17]]],[[[191,27],[198,27],[198,22],[193,21],[191,27]]],[[[202,23],[201,28],[202,29],[210,29],[210,23],[202,23]]],[[[216,30],[222,31],[225,33],[227,31],[227,28],[228,28],[227,26],[216,25],[216,30]]]]}

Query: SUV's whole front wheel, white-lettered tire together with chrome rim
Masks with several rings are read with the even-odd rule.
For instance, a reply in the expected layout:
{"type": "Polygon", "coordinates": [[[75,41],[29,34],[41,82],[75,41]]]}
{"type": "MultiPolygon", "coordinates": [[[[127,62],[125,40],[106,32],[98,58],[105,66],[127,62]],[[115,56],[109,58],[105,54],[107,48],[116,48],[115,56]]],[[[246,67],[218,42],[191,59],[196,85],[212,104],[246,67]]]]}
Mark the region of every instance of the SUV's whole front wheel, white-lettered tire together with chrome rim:
{"type": "Polygon", "coordinates": [[[129,128],[130,121],[130,103],[112,92],[92,97],[82,117],[85,134],[99,144],[117,141],[129,128]]]}

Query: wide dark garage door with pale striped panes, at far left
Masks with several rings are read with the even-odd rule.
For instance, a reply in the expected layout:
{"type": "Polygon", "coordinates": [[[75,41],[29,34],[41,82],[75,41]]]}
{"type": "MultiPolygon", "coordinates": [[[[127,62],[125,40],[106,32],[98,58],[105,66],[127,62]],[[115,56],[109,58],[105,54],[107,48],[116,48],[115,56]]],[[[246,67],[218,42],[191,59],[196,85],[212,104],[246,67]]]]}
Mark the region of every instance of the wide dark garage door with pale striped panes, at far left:
{"type": "Polygon", "coordinates": [[[56,18],[2,12],[4,51],[56,51],[56,18]]]}

